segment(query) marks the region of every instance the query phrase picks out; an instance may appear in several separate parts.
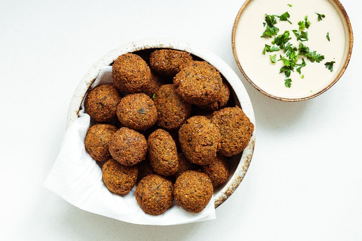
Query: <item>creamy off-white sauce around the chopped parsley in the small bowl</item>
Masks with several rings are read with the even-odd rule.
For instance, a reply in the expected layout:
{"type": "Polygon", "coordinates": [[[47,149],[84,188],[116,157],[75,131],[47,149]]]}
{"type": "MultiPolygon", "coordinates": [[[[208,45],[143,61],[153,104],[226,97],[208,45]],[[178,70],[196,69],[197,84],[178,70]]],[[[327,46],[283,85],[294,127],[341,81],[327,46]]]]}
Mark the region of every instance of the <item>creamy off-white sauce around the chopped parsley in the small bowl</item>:
{"type": "Polygon", "coordinates": [[[240,16],[235,34],[235,48],[245,74],[260,89],[280,98],[303,98],[323,90],[337,76],[345,52],[345,30],[337,10],[328,0],[252,0],[240,16]],[[287,4],[293,6],[289,7],[287,4]],[[290,14],[289,20],[293,24],[277,18],[277,35],[289,30],[292,38],[290,42],[299,48],[299,42],[292,30],[298,30],[299,33],[298,22],[308,15],[311,26],[304,31],[308,32],[309,40],[302,43],[309,47],[310,51],[315,50],[325,57],[320,63],[311,63],[305,56],[300,56],[298,63],[301,63],[303,57],[307,65],[302,68],[302,74],[299,75],[296,69],[291,73],[291,88],[284,85],[284,80],[287,79],[284,73],[279,74],[279,69],[284,65],[283,61],[273,64],[269,57],[269,54],[277,54],[278,60],[280,55],[285,56],[284,51],[266,52],[262,55],[265,44],[272,46],[273,39],[260,38],[265,30],[262,24],[265,22],[265,14],[280,16],[285,12],[290,14]],[[318,21],[315,12],[325,14],[325,18],[318,21]],[[331,41],[327,40],[328,32],[331,41]],[[331,61],[336,62],[333,72],[324,65],[331,61]],[[302,75],[304,79],[301,78],[302,75]]]}

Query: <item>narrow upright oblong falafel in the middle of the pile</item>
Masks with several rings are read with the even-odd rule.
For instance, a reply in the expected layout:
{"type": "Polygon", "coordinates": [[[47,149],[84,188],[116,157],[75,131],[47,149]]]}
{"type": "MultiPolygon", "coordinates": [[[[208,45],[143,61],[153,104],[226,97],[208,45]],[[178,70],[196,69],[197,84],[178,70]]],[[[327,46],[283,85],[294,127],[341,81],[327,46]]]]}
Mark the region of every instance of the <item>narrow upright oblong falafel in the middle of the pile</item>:
{"type": "Polygon", "coordinates": [[[150,164],[157,174],[171,176],[177,172],[176,144],[167,131],[155,130],[148,137],[147,144],[150,164]]]}

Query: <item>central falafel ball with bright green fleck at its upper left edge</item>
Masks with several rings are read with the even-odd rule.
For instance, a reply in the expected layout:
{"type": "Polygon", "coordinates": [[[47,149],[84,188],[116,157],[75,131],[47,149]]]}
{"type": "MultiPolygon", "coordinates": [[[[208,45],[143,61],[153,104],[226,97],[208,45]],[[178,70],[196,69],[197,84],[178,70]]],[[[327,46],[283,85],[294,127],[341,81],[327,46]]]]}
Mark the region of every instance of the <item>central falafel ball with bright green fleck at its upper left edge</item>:
{"type": "Polygon", "coordinates": [[[163,85],[153,99],[157,109],[157,124],[166,129],[178,129],[190,117],[191,104],[177,94],[173,85],[163,85]]]}

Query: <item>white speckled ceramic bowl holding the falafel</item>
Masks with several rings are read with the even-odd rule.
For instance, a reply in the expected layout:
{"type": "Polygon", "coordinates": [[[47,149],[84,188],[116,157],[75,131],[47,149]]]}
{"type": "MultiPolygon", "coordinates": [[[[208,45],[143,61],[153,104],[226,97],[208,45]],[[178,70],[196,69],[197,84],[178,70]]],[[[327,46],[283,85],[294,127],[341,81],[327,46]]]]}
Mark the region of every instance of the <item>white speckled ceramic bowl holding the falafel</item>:
{"type": "MultiPolygon", "coordinates": [[[[249,117],[255,126],[254,111],[249,99],[249,95],[245,90],[243,83],[241,83],[239,77],[237,77],[235,72],[233,72],[230,66],[228,66],[222,59],[210,51],[203,50],[188,43],[173,39],[152,38],[142,39],[122,45],[121,47],[118,47],[115,50],[107,53],[100,60],[98,60],[97,63],[92,66],[92,68],[88,70],[77,86],[77,89],[75,90],[71,100],[67,117],[67,128],[73,123],[74,120],[78,118],[81,102],[87,93],[89,86],[97,78],[103,66],[112,65],[114,60],[124,53],[152,48],[171,48],[174,50],[186,51],[200,57],[211,65],[214,65],[215,68],[220,71],[220,73],[230,84],[232,88],[230,91],[231,97],[235,99],[236,104],[243,109],[245,114],[249,117]]],[[[220,186],[214,191],[215,207],[220,206],[228,197],[230,197],[230,195],[235,191],[237,186],[239,186],[240,182],[243,180],[253,156],[254,143],[255,130],[247,148],[242,153],[235,155],[230,159],[229,179],[226,184],[220,186]]]]}

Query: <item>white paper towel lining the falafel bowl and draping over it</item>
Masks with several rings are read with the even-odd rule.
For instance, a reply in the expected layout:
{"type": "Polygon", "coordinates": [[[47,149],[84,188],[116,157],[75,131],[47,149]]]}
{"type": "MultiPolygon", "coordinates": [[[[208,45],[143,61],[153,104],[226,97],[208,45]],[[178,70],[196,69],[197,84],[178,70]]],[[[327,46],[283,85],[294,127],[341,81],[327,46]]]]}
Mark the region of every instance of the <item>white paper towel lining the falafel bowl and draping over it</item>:
{"type": "MultiPolygon", "coordinates": [[[[105,66],[91,89],[112,82],[112,66],[105,66]]],[[[68,128],[55,163],[44,186],[67,202],[83,210],[128,223],[174,225],[215,219],[214,197],[198,214],[185,211],[173,200],[171,207],[160,215],[143,212],[135,199],[135,188],[126,195],[111,193],[102,181],[102,170],[86,151],[84,139],[90,116],[84,113],[84,100],[79,118],[68,128]]]]}

